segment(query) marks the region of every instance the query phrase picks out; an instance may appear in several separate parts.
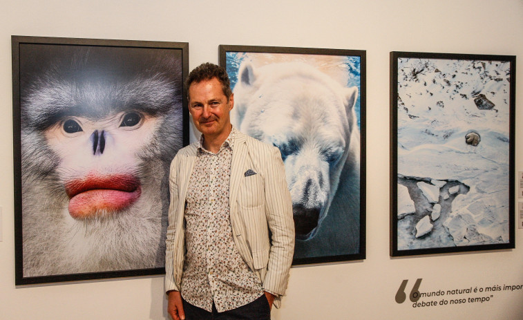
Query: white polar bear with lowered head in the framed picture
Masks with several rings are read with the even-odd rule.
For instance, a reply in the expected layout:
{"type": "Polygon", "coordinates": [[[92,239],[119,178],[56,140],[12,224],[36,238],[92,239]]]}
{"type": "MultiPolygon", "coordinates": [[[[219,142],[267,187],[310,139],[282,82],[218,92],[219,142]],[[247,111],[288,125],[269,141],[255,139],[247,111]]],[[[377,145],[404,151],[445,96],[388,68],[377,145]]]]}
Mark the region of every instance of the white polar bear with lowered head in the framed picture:
{"type": "Polygon", "coordinates": [[[356,86],[343,87],[303,62],[240,65],[231,122],[280,149],[298,239],[314,237],[341,176],[349,186],[336,210],[359,215],[357,97],[356,86]]]}

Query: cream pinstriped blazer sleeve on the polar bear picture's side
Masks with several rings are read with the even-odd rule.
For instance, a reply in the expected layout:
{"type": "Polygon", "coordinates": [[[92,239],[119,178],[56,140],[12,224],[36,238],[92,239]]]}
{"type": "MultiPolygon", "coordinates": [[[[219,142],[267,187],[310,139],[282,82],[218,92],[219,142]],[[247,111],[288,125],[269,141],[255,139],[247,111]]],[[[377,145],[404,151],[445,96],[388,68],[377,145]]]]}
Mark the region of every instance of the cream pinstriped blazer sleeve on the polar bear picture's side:
{"type": "Polygon", "coordinates": [[[263,288],[278,297],[285,294],[289,282],[294,255],[294,220],[285,167],[278,148],[270,147],[265,163],[265,216],[272,238],[263,288]]]}

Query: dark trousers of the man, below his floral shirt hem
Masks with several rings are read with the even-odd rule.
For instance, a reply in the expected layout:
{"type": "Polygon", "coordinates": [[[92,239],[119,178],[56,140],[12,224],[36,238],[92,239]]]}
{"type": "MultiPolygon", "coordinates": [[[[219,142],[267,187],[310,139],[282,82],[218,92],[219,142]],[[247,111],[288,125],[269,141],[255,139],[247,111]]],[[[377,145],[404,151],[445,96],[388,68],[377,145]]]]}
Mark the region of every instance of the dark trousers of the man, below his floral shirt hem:
{"type": "Polygon", "coordinates": [[[261,297],[242,305],[233,310],[225,312],[218,312],[216,306],[213,303],[213,310],[209,312],[202,308],[198,308],[195,305],[191,305],[184,299],[182,299],[183,310],[185,312],[186,320],[270,320],[271,309],[269,308],[269,301],[262,294],[261,297]]]}

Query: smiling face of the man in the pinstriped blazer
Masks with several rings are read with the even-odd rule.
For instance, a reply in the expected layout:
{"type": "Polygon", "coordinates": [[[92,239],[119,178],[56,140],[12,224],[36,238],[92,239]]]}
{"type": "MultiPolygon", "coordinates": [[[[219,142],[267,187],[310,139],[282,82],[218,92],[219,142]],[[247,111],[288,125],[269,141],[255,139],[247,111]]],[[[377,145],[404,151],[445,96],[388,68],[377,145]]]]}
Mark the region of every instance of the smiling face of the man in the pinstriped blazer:
{"type": "Polygon", "coordinates": [[[220,135],[227,138],[231,128],[229,111],[233,106],[233,96],[227,102],[222,84],[216,77],[189,86],[189,112],[196,129],[206,138],[217,138],[220,135]]]}

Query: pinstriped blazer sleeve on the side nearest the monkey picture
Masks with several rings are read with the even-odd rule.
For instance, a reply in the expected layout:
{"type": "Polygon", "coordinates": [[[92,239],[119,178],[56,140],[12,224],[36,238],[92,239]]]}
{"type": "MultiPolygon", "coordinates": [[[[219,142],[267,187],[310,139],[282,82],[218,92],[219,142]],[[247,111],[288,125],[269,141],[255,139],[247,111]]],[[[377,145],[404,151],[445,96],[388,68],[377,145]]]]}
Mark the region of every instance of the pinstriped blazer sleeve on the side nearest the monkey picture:
{"type": "Polygon", "coordinates": [[[165,240],[165,291],[178,290],[176,285],[174,270],[175,264],[175,233],[176,233],[176,215],[178,214],[178,166],[176,165],[178,157],[171,162],[169,170],[169,193],[171,203],[169,203],[169,226],[167,227],[167,238],[165,240]]]}

